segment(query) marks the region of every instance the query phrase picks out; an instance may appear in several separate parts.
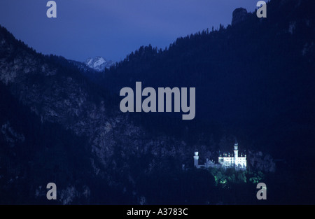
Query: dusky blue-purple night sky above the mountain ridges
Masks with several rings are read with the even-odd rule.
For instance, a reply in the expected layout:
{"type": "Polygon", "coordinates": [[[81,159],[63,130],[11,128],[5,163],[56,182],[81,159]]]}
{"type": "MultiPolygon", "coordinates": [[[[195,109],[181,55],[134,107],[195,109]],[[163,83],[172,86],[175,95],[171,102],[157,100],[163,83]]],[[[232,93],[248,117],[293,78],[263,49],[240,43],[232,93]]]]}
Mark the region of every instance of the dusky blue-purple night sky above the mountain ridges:
{"type": "Polygon", "coordinates": [[[255,0],[55,0],[57,18],[46,17],[48,0],[1,0],[0,24],[43,54],[84,61],[124,59],[141,45],[165,48],[179,36],[227,26],[232,11],[253,12],[255,0]]]}

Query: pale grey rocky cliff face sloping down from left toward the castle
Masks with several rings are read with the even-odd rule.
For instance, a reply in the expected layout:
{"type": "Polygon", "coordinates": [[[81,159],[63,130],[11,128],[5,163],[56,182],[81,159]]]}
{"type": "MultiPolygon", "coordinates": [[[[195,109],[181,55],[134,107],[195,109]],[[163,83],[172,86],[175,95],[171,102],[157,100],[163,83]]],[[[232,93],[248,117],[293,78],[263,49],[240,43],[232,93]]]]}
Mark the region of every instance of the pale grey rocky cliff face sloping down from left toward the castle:
{"type": "MultiPolygon", "coordinates": [[[[99,177],[106,185],[115,185],[123,191],[134,183],[137,171],[151,171],[160,165],[163,157],[185,157],[183,143],[162,136],[157,139],[147,136],[143,128],[133,125],[126,114],[120,113],[115,99],[102,88],[96,89],[75,66],[64,64],[69,62],[62,57],[39,55],[16,41],[4,28],[0,31],[0,42],[1,82],[42,124],[57,124],[73,133],[69,138],[86,139],[90,177],[99,177]],[[141,160],[146,155],[152,156],[151,160],[141,160]],[[137,171],[132,170],[131,159],[136,164],[141,162],[137,171]],[[123,183],[121,178],[126,181],[123,183]]],[[[25,139],[23,133],[15,132],[10,126],[10,120],[1,124],[1,132],[8,146],[25,139]]],[[[67,192],[73,190],[78,188],[64,188],[67,192]]],[[[33,192],[41,195],[38,188],[33,192]]],[[[73,194],[76,193],[80,192],[73,194]]],[[[72,196],[60,201],[70,204],[76,197],[72,196]]]]}

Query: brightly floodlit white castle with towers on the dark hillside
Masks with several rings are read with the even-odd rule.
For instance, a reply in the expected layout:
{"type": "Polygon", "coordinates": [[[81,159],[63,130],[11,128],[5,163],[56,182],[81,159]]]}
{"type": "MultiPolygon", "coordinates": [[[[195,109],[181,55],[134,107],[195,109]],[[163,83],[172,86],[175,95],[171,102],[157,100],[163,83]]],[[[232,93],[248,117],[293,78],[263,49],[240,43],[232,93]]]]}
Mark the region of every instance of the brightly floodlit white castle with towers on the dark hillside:
{"type": "Polygon", "coordinates": [[[246,155],[241,153],[239,157],[239,144],[234,144],[234,155],[230,153],[221,153],[218,157],[218,164],[215,164],[213,161],[208,160],[204,163],[204,165],[199,165],[199,153],[196,151],[194,156],[194,166],[197,168],[204,167],[214,167],[214,168],[235,168],[236,170],[246,170],[246,155]]]}

